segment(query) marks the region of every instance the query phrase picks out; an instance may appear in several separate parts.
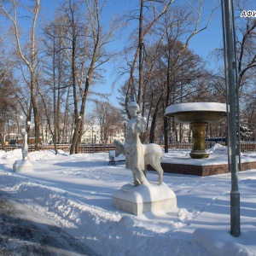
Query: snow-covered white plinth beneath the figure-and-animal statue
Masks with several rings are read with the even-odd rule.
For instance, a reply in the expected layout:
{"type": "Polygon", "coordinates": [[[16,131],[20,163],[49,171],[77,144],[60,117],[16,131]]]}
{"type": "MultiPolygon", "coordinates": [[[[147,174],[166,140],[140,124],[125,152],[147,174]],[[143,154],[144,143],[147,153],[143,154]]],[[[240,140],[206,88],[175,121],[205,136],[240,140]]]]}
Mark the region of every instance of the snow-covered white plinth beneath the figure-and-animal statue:
{"type": "Polygon", "coordinates": [[[148,183],[145,180],[139,186],[129,183],[115,191],[112,206],[138,216],[143,212],[177,209],[177,199],[166,183],[148,183]]]}

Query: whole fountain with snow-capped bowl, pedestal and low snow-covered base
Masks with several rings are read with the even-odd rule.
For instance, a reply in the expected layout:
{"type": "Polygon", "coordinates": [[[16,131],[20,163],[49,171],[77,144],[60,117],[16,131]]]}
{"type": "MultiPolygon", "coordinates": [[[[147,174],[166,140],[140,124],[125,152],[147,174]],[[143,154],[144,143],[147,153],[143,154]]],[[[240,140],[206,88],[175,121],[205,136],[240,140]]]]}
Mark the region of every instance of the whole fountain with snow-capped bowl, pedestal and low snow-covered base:
{"type": "MultiPolygon", "coordinates": [[[[161,160],[164,172],[185,175],[209,176],[230,172],[227,148],[216,144],[211,156],[206,150],[206,126],[219,122],[226,116],[226,104],[215,102],[180,103],[166,108],[166,116],[174,117],[177,122],[193,126],[194,148],[190,154],[170,154],[161,160]]],[[[241,156],[241,171],[256,168],[254,158],[241,156]]],[[[148,170],[154,170],[148,165],[148,170]]]]}

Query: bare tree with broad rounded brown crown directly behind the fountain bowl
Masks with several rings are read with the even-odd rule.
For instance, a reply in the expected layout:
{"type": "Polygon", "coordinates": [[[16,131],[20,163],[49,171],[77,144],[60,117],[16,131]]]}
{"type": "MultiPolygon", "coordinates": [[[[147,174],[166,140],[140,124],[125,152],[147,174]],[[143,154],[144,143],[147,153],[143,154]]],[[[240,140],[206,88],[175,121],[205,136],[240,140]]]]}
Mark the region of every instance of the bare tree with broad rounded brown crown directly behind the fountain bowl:
{"type": "MultiPolygon", "coordinates": [[[[206,90],[206,85],[202,80],[209,79],[207,70],[203,67],[203,61],[198,55],[195,55],[191,50],[186,49],[177,61],[177,55],[183,49],[184,45],[181,41],[175,41],[172,45],[161,44],[158,47],[158,58],[154,61],[154,69],[149,80],[148,90],[144,91],[145,101],[148,106],[148,117],[151,117],[149,142],[154,142],[154,129],[156,125],[160,125],[163,112],[166,109],[166,94],[169,94],[169,104],[188,101],[192,96],[196,95],[199,84],[203,84],[206,90]],[[175,67],[171,69],[172,63],[175,62],[175,67]],[[168,76],[169,73],[172,76],[168,76]],[[166,84],[170,84],[170,91],[166,90],[166,84]]],[[[148,55],[150,53],[148,52],[148,55]]],[[[149,56],[148,56],[149,58],[149,56]]],[[[204,91],[205,91],[204,90],[204,91]]],[[[197,98],[194,98],[198,101],[197,98]]],[[[173,126],[175,127],[175,126],[173,126]]],[[[176,129],[173,129],[176,131],[176,129]]],[[[161,131],[163,134],[164,131],[161,131]]],[[[182,135],[182,134],[181,134],[182,135]]],[[[180,136],[180,139],[182,137],[180,136]]]]}

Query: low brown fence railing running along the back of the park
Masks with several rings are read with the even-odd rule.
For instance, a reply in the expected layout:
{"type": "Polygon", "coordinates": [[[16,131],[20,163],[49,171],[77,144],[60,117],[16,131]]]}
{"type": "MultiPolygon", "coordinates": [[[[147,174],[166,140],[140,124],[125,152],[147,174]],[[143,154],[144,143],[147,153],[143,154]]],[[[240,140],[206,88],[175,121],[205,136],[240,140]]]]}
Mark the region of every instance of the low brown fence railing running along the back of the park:
{"type": "MultiPolygon", "coordinates": [[[[214,142],[206,142],[206,148],[212,148],[214,142]]],[[[223,142],[219,143],[224,145],[223,142]]],[[[70,151],[70,144],[57,144],[57,149],[63,150],[65,152],[70,151]]],[[[160,145],[161,148],[164,148],[164,145],[160,145]]],[[[8,151],[14,150],[16,148],[21,148],[20,145],[7,145],[6,146],[8,151]]],[[[192,149],[193,143],[169,143],[169,148],[172,150],[182,150],[182,149],[192,149]]],[[[41,145],[40,150],[54,150],[54,145],[41,145]]],[[[109,150],[114,150],[115,146],[113,144],[91,144],[79,145],[79,153],[86,154],[86,153],[97,153],[97,152],[108,152],[109,150]]],[[[2,146],[0,146],[0,150],[3,150],[2,146]]],[[[32,152],[35,151],[34,145],[28,145],[28,151],[32,152]]],[[[256,152],[256,142],[241,142],[241,152],[256,152]]]]}

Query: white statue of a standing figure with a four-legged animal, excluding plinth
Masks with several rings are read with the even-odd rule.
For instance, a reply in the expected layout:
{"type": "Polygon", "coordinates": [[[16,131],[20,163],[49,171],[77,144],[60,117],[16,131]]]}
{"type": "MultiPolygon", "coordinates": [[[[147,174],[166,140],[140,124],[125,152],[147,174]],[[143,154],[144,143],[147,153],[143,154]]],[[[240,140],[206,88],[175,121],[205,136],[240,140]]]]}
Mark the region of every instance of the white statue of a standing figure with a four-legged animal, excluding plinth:
{"type": "Polygon", "coordinates": [[[131,119],[127,124],[125,144],[114,141],[116,156],[125,154],[125,165],[133,173],[135,186],[142,184],[145,180],[144,173],[146,173],[149,164],[159,173],[158,182],[162,183],[163,169],[160,166],[160,160],[163,157],[162,149],[154,143],[147,145],[141,143],[139,135],[145,131],[146,119],[139,114],[140,108],[137,102],[130,102],[128,111],[131,114],[131,119]]]}

